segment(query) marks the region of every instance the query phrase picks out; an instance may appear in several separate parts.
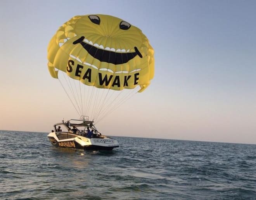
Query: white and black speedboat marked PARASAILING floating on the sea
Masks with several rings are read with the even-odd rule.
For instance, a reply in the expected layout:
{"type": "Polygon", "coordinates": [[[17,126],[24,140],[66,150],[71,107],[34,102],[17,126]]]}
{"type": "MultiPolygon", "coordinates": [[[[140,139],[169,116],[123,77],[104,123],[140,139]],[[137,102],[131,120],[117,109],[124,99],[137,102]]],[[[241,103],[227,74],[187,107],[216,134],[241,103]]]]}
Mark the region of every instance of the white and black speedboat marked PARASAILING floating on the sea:
{"type": "Polygon", "coordinates": [[[84,116],[54,124],[54,130],[48,134],[54,146],[85,150],[112,150],[119,147],[118,141],[102,135],[93,125],[93,121],[84,116]]]}

